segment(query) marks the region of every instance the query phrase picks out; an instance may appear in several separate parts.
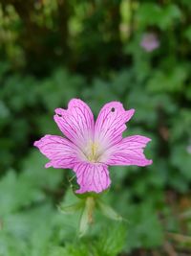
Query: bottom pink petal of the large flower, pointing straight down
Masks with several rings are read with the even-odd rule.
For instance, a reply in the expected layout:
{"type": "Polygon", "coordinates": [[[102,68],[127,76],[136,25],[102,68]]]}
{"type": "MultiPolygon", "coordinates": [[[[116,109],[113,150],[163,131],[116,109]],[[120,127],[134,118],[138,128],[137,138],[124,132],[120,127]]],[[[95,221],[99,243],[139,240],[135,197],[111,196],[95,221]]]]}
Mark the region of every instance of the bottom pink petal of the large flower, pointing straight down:
{"type": "Polygon", "coordinates": [[[81,162],[74,166],[80,189],[76,193],[100,193],[110,186],[111,180],[105,164],[81,162]]]}

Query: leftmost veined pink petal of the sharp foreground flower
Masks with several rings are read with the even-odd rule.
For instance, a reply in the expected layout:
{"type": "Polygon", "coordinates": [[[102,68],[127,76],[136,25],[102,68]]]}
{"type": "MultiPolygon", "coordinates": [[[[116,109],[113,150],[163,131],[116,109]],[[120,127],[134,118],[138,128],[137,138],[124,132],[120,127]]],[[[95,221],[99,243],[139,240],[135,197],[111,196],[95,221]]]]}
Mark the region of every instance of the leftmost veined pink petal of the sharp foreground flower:
{"type": "Polygon", "coordinates": [[[78,160],[76,146],[60,136],[46,135],[35,141],[34,146],[51,160],[45,165],[47,168],[73,168],[78,160]]]}

